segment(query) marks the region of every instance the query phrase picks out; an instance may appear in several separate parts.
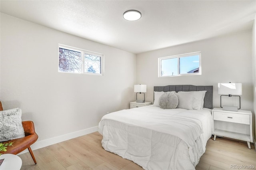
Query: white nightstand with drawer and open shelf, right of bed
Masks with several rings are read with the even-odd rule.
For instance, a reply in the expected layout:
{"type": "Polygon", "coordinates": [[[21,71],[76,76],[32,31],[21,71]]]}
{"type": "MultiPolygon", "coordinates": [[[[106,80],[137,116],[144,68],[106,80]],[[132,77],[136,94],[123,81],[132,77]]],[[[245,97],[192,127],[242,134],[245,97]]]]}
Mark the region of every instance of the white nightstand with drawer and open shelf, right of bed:
{"type": "Polygon", "coordinates": [[[223,111],[221,108],[212,109],[214,140],[216,136],[225,136],[244,140],[251,148],[252,142],[252,112],[238,110],[223,111]]]}

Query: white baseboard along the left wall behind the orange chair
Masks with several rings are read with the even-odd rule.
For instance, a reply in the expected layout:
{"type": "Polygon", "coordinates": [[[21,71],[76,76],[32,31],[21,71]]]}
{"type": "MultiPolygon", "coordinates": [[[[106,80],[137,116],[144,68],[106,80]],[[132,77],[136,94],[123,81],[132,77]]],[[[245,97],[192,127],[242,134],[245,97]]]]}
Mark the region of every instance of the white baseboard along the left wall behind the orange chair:
{"type": "MultiPolygon", "coordinates": [[[[63,142],[65,140],[69,140],[69,139],[72,139],[72,138],[76,138],[76,137],[79,137],[79,136],[90,134],[90,133],[96,132],[96,131],[98,131],[98,126],[87,128],[87,129],[84,129],[84,130],[79,130],[79,131],[68,133],[68,134],[63,134],[63,135],[60,135],[60,136],[56,136],[54,138],[49,138],[49,139],[45,139],[45,140],[36,141],[30,147],[31,147],[32,150],[36,150],[36,149],[44,148],[46,146],[50,146],[52,144],[63,142]]],[[[28,149],[20,152],[19,154],[24,154],[26,152],[28,152],[28,149]]]]}

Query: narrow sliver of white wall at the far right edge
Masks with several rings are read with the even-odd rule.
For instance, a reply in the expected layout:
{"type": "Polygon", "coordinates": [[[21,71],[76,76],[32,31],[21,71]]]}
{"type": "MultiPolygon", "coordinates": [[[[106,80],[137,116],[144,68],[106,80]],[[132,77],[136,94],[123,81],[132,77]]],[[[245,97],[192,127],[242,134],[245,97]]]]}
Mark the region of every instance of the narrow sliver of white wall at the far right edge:
{"type": "MultiPolygon", "coordinates": [[[[256,16],[255,16],[256,20],[256,16]]],[[[256,23],[252,27],[252,76],[253,76],[253,100],[254,100],[254,139],[256,138],[256,23]]],[[[256,141],[254,141],[254,146],[256,146],[256,141]]],[[[256,148],[255,148],[256,150],[256,148]]]]}

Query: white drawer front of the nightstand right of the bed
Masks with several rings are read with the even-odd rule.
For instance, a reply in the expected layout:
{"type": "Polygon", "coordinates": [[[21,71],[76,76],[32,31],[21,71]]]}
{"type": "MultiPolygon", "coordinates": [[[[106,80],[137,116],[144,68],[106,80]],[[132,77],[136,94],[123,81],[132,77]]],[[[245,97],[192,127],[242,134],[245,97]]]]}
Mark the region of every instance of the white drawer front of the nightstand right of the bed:
{"type": "Polygon", "coordinates": [[[214,120],[250,125],[250,115],[214,111],[214,120]]]}

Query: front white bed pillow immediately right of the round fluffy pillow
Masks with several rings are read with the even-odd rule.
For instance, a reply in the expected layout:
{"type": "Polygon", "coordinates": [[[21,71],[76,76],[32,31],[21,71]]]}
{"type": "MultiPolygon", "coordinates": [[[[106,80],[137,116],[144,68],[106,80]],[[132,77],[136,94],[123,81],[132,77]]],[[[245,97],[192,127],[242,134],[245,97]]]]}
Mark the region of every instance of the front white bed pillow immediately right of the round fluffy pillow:
{"type": "Polygon", "coordinates": [[[177,108],[192,110],[193,96],[189,93],[175,93],[178,97],[179,103],[177,108]]]}

